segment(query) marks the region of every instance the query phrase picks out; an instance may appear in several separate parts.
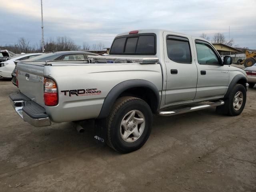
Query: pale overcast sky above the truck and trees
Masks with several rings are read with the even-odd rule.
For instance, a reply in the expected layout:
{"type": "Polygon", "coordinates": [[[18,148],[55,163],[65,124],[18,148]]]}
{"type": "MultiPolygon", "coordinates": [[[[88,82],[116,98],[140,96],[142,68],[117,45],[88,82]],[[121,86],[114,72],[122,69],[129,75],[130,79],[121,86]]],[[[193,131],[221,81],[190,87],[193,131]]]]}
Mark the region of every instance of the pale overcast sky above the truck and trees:
{"type": "MultiPolygon", "coordinates": [[[[44,38],[68,36],[78,45],[136,29],[161,28],[210,39],[224,33],[256,48],[255,0],[43,0],[44,38]]],[[[0,0],[0,45],[41,40],[40,0],[0,0]]]]}

